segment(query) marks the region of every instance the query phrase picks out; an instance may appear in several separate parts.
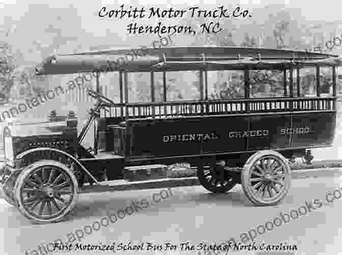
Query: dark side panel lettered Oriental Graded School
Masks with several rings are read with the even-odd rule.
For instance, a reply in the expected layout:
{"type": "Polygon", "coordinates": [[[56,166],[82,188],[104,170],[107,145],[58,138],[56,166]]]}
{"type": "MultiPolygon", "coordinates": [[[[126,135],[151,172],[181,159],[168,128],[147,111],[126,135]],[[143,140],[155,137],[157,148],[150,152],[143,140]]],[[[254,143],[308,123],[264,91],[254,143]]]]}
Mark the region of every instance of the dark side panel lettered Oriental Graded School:
{"type": "Polygon", "coordinates": [[[334,128],[333,112],[130,120],[126,156],[170,157],[329,145],[334,128]]]}

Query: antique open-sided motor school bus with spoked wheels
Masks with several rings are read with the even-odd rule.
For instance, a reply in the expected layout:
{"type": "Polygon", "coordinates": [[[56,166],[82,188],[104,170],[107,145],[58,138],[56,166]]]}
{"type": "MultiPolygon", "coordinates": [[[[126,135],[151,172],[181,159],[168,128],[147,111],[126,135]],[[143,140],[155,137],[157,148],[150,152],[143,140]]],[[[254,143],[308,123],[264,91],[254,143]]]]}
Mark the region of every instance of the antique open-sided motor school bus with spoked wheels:
{"type": "MultiPolygon", "coordinates": [[[[54,55],[37,67],[37,75],[108,71],[108,63],[128,53],[123,49],[54,55]]],[[[4,129],[2,189],[24,216],[38,223],[59,221],[72,211],[78,193],[113,190],[110,181],[122,179],[130,167],[176,162],[197,167],[199,182],[211,192],[241,184],[253,204],[272,206],[289,191],[289,162],[296,157],[310,160],[308,149],[332,145],[340,65],[336,55],[245,47],[147,48],[146,53],[110,65],[109,71],[119,72],[118,83],[111,86],[119,87],[120,102],[100,93],[97,76],[96,91],[88,91],[96,103],[78,135],[72,113],[4,129]],[[310,97],[301,88],[305,68],[316,73],[316,92],[310,97]],[[325,95],[322,68],[331,73],[325,95]],[[241,74],[239,97],[208,95],[208,72],[222,70],[241,74]],[[283,75],[280,96],[252,95],[256,87],[251,86],[250,74],[259,70],[283,75]],[[167,100],[166,75],[181,71],[198,73],[199,99],[167,100]],[[134,72],[151,75],[151,102],[130,102],[128,73],[134,72]],[[162,102],[155,100],[156,73],[163,77],[162,102]],[[92,124],[90,151],[81,143],[92,124]]]]}

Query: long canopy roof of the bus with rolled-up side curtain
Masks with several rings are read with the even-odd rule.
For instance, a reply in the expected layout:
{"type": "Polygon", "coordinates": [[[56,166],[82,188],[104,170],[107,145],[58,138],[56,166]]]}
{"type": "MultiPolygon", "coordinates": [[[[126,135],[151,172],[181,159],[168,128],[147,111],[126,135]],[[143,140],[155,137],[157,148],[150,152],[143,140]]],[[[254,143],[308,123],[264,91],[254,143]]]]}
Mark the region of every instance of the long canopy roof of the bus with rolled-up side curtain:
{"type": "Polygon", "coordinates": [[[341,65],[338,55],[257,47],[164,47],[58,54],[36,68],[37,75],[94,71],[188,71],[285,69],[341,65]]]}

